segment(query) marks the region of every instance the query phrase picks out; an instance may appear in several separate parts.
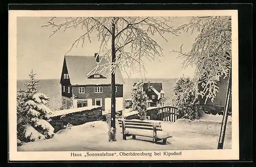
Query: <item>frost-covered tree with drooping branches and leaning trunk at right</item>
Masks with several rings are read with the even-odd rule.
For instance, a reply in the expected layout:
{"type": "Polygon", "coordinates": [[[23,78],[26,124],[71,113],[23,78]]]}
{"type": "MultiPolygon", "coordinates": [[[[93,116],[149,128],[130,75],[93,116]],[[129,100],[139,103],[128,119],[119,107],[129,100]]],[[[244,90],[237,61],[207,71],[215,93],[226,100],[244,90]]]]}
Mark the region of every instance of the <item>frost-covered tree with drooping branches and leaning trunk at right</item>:
{"type": "MultiPolygon", "coordinates": [[[[179,58],[185,58],[183,65],[196,67],[195,71],[195,92],[202,97],[214,101],[217,86],[216,77],[228,77],[226,92],[226,102],[218,149],[223,148],[225,129],[227,123],[227,108],[231,93],[231,17],[230,16],[204,16],[193,17],[189,23],[181,25],[180,31],[198,31],[199,34],[187,53],[182,51],[172,51],[179,54],[179,58]],[[198,90],[201,84],[203,90],[198,90]]],[[[196,99],[194,100],[194,102],[196,99]]]]}

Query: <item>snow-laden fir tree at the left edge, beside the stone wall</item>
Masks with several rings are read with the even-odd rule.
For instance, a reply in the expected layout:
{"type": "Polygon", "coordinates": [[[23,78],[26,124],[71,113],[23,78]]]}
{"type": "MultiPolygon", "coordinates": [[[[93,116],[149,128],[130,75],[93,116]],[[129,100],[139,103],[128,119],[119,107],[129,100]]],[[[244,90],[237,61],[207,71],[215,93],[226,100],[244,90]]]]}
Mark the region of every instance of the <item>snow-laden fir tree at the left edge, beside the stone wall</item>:
{"type": "Polygon", "coordinates": [[[17,138],[22,141],[35,141],[54,135],[54,128],[48,122],[52,112],[47,107],[49,98],[36,93],[38,80],[35,80],[35,75],[31,70],[30,81],[25,83],[28,90],[17,91],[17,138]]]}

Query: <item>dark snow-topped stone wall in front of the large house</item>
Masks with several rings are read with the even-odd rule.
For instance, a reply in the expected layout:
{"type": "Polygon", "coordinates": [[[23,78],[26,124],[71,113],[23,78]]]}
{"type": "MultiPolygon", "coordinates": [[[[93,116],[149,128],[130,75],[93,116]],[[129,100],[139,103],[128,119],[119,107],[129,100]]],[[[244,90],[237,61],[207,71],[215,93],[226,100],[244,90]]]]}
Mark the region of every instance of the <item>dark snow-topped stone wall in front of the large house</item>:
{"type": "Polygon", "coordinates": [[[102,120],[102,107],[52,116],[49,123],[53,126],[54,132],[56,133],[57,131],[64,129],[64,126],[68,125],[68,123],[76,126],[99,120],[102,120]]]}

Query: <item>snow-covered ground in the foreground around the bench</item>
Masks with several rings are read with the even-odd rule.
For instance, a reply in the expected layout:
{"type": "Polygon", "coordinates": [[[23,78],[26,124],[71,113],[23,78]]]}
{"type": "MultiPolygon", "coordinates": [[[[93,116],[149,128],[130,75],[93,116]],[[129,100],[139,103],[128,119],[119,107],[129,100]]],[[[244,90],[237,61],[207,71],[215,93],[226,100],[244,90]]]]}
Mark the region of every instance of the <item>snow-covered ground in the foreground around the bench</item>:
{"type": "MultiPolygon", "coordinates": [[[[230,119],[230,118],[229,118],[230,119]]],[[[131,151],[131,150],[195,150],[216,149],[222,115],[201,115],[199,121],[162,122],[163,131],[172,135],[167,144],[153,144],[152,138],[136,136],[122,140],[117,123],[117,141],[109,142],[107,124],[96,121],[57,132],[53,138],[26,143],[18,151],[131,151]]],[[[224,149],[231,149],[231,122],[226,129],[224,149]]]]}

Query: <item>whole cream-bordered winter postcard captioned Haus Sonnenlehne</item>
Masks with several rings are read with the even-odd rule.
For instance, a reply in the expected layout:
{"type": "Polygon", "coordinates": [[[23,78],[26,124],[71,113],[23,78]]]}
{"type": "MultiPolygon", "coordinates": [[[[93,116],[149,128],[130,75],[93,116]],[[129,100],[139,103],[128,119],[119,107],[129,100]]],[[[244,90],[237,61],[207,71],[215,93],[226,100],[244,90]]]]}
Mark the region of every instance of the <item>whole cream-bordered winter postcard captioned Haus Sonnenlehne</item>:
{"type": "Polygon", "coordinates": [[[9,11],[10,160],[239,159],[236,10],[9,11]]]}

